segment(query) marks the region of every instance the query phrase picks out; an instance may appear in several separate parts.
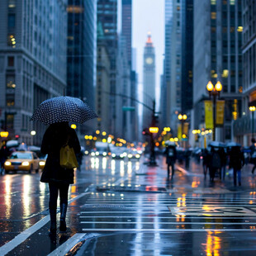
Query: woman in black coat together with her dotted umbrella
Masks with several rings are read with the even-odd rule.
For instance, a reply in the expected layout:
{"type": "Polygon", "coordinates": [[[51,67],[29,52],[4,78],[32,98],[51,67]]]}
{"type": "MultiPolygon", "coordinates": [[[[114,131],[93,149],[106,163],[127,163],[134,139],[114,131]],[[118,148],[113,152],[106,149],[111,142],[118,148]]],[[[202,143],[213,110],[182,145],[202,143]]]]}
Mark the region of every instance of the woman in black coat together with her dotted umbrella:
{"type": "MultiPolygon", "coordinates": [[[[57,230],[56,210],[58,193],[60,197],[60,231],[66,231],[69,184],[73,183],[73,168],[62,164],[61,151],[64,147],[73,150],[73,155],[81,150],[76,131],[69,127],[69,121],[83,123],[97,117],[87,104],[74,97],[54,97],[42,102],[34,111],[31,120],[50,125],[45,131],[40,151],[48,154],[40,182],[49,183],[50,235],[57,230]]],[[[75,158],[75,155],[74,155],[75,158]]],[[[77,160],[75,159],[75,162],[77,160]]]]}

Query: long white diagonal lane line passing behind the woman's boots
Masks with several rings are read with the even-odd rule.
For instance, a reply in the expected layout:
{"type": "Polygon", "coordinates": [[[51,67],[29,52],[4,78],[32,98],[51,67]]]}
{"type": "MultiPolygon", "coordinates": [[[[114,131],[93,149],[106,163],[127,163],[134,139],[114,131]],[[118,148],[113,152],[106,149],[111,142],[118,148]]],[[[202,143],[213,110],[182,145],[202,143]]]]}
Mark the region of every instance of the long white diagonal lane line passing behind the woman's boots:
{"type": "MultiPolygon", "coordinates": [[[[80,197],[85,196],[88,193],[90,192],[85,192],[78,195],[77,197],[73,197],[72,199],[69,200],[69,204],[79,199],[80,197]]],[[[40,228],[46,225],[49,221],[50,215],[47,215],[43,219],[37,221],[36,224],[32,225],[27,230],[22,231],[21,234],[17,235],[11,241],[7,242],[7,244],[2,245],[2,247],[0,247],[1,255],[8,254],[10,251],[12,251],[12,249],[16,248],[19,244],[23,243],[26,239],[33,235],[37,230],[40,230],[40,228]]]]}

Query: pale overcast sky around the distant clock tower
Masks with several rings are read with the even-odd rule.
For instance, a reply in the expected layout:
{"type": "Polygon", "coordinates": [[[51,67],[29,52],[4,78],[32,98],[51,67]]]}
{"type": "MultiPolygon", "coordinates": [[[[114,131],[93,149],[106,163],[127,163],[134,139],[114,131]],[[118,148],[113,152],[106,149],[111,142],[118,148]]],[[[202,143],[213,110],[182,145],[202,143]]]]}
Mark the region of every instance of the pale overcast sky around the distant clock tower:
{"type": "MultiPolygon", "coordinates": [[[[132,47],[137,51],[136,68],[139,73],[139,92],[143,83],[143,54],[150,31],[156,57],[156,100],[159,105],[160,75],[164,60],[164,0],[133,0],[132,47]]],[[[141,98],[140,98],[141,99],[141,98]]]]}

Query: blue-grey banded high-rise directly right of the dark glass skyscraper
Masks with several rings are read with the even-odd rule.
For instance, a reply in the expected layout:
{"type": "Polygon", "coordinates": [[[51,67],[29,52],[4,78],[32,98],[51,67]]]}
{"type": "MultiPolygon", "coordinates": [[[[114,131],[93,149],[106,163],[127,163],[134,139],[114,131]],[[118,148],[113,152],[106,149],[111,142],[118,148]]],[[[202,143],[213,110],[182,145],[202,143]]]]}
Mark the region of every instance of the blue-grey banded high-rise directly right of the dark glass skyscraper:
{"type": "Polygon", "coordinates": [[[107,43],[107,51],[111,59],[110,67],[110,113],[111,134],[116,134],[116,58],[117,58],[117,0],[97,1],[97,22],[102,23],[104,38],[107,43]]]}

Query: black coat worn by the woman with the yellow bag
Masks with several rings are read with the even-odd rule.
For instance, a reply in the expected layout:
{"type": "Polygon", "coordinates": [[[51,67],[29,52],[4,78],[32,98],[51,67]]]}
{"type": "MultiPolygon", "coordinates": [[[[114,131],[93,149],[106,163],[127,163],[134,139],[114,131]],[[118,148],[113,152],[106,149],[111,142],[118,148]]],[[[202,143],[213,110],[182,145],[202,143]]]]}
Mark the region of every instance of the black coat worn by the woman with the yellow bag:
{"type": "Polygon", "coordinates": [[[62,168],[59,164],[59,151],[69,138],[69,147],[75,154],[81,150],[78,135],[68,123],[56,123],[49,126],[41,145],[41,153],[48,154],[45,168],[40,178],[41,183],[58,182],[73,184],[73,168],[62,168]]]}

